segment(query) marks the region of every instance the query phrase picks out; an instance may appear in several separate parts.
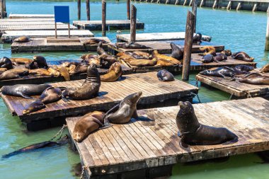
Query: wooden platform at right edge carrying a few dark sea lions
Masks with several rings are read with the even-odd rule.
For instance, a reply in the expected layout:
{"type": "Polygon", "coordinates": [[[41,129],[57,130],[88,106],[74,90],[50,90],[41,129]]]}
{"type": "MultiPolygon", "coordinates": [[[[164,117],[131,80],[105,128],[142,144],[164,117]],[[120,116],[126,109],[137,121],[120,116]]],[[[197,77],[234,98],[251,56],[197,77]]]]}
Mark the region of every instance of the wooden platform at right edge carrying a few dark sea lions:
{"type": "Polygon", "coordinates": [[[269,85],[253,85],[248,83],[240,83],[236,81],[227,81],[220,77],[205,76],[198,74],[196,80],[212,86],[221,91],[238,96],[241,98],[250,98],[255,96],[266,96],[269,94],[269,85]]]}

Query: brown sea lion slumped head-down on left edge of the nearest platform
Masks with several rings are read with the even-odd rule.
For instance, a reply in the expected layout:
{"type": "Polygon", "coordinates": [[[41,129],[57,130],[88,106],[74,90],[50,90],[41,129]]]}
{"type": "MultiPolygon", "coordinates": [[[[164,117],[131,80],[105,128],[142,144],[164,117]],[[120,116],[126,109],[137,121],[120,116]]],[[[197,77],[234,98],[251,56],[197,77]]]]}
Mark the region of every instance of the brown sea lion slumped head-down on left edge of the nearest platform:
{"type": "Polygon", "coordinates": [[[76,142],[81,142],[89,134],[103,127],[104,113],[100,111],[89,112],[81,117],[74,127],[72,137],[76,142]]]}

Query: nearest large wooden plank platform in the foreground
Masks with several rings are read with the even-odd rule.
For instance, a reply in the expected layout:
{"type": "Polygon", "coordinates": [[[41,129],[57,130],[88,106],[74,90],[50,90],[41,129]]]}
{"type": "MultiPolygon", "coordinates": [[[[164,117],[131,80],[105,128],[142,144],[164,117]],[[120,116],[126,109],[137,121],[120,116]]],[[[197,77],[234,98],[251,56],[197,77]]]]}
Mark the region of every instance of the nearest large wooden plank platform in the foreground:
{"type": "MultiPolygon", "coordinates": [[[[131,122],[125,125],[113,125],[113,127],[108,129],[98,130],[94,134],[90,134],[83,142],[75,142],[75,144],[79,147],[78,144],[84,144],[87,140],[93,140],[96,135],[102,136],[102,139],[107,141],[110,137],[117,139],[117,141],[110,140],[108,145],[118,144],[119,139],[120,142],[126,141],[125,144],[129,146],[128,144],[130,143],[128,142],[130,139],[135,139],[134,146],[138,151],[144,151],[151,147],[149,151],[154,151],[154,154],[144,155],[143,158],[133,158],[132,160],[128,157],[122,157],[122,161],[111,161],[108,165],[100,164],[97,166],[96,163],[87,159],[91,157],[92,151],[79,151],[81,162],[88,163],[89,170],[86,172],[92,176],[125,173],[151,167],[248,154],[269,149],[268,100],[263,98],[228,100],[195,104],[193,108],[200,123],[214,127],[227,127],[227,129],[239,136],[239,142],[229,145],[190,146],[190,153],[188,153],[178,145],[179,137],[177,136],[178,129],[175,119],[178,110],[180,110],[179,106],[138,110],[139,116],[149,117],[155,121],[147,122],[132,119],[131,122]],[[209,115],[209,113],[214,115],[209,115]],[[113,131],[109,137],[104,135],[108,130],[113,131]],[[145,146],[147,148],[144,148],[145,146]]],[[[72,134],[74,124],[79,118],[67,118],[70,134],[72,134]]],[[[130,145],[130,149],[133,149],[134,146],[130,145]]],[[[114,151],[107,152],[113,156],[114,151]]],[[[131,156],[133,151],[128,148],[128,150],[124,150],[124,154],[131,156]]],[[[105,156],[99,157],[102,160],[102,157],[105,156]]]]}

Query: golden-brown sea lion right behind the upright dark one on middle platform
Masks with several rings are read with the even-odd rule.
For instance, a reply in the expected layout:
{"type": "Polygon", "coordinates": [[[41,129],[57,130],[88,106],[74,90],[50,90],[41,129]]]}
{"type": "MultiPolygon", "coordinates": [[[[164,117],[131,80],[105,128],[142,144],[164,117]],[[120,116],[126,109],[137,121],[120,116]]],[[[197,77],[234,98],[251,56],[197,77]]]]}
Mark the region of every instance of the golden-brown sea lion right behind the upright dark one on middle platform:
{"type": "Polygon", "coordinates": [[[105,82],[113,82],[117,81],[120,78],[120,76],[122,76],[122,67],[120,66],[119,62],[115,62],[108,69],[108,73],[101,75],[100,79],[101,81],[105,82]]]}

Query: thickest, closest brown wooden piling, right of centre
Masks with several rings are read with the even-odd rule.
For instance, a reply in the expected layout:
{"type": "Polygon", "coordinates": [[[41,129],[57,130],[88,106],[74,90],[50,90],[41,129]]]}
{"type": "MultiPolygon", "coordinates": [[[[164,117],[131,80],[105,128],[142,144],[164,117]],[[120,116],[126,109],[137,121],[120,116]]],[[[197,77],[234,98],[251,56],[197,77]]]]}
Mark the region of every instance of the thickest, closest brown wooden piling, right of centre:
{"type": "Polygon", "coordinates": [[[188,11],[186,29],[185,29],[185,44],[184,44],[184,57],[183,57],[183,71],[182,71],[182,80],[188,81],[190,74],[190,57],[191,50],[193,47],[193,29],[195,15],[188,11]]]}

